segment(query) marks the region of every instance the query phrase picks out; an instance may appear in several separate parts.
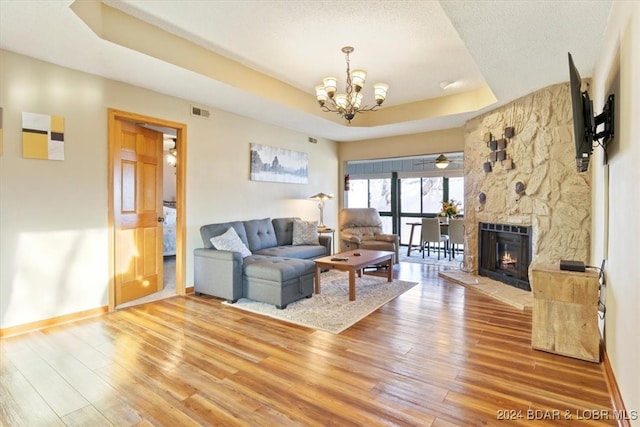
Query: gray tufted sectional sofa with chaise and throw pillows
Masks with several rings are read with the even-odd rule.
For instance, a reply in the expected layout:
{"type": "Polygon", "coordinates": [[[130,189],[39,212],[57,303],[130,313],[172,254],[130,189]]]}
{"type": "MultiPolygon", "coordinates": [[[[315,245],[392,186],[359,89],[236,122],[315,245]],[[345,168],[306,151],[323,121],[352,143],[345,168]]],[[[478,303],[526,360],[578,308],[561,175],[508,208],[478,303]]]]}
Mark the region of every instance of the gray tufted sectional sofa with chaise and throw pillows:
{"type": "Polygon", "coordinates": [[[194,251],[194,291],[234,303],[249,298],[286,308],[313,295],[314,258],[331,254],[331,236],[318,236],[317,245],[293,245],[294,218],[255,219],[200,227],[204,248],[194,251]],[[233,227],[251,251],[218,250],[211,238],[233,227]]]}

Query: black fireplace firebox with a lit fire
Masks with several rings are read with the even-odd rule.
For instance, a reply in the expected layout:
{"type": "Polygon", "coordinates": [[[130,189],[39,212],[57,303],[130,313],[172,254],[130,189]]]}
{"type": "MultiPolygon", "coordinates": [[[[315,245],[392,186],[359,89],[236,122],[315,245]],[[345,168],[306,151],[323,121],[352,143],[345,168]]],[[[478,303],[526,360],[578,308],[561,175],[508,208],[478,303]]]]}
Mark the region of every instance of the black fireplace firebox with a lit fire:
{"type": "Polygon", "coordinates": [[[531,227],[481,222],[478,274],[531,290],[531,227]]]}

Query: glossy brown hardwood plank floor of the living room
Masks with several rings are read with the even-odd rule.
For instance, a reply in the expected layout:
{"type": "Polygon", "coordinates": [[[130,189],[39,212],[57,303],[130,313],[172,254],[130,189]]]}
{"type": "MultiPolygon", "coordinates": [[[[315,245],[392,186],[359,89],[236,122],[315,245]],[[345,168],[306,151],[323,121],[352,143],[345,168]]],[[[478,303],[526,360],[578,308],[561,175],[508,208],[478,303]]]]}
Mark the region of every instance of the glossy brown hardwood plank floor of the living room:
{"type": "Polygon", "coordinates": [[[3,339],[0,425],[616,425],[601,365],[438,271],[339,335],[188,296],[3,339]]]}

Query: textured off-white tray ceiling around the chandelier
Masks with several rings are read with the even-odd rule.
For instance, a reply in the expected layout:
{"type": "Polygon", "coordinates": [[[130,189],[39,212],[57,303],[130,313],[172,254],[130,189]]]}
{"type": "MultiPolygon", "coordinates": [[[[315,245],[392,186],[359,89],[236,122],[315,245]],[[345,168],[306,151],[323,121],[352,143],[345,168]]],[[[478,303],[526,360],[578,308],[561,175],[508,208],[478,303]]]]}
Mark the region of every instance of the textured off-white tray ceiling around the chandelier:
{"type": "Polygon", "coordinates": [[[380,112],[348,125],[317,107],[297,108],[177,65],[166,58],[180,52],[168,47],[154,56],[101,38],[72,3],[0,0],[0,47],[338,141],[461,126],[567,81],[568,51],[590,76],[611,7],[598,0],[104,2],[296,88],[309,105],[325,75],[344,84],[340,49],[354,46],[351,67],[369,72],[365,101],[372,83],[390,89],[380,112]],[[445,81],[456,85],[443,90],[445,81]],[[461,102],[483,88],[494,102],[461,102]]]}

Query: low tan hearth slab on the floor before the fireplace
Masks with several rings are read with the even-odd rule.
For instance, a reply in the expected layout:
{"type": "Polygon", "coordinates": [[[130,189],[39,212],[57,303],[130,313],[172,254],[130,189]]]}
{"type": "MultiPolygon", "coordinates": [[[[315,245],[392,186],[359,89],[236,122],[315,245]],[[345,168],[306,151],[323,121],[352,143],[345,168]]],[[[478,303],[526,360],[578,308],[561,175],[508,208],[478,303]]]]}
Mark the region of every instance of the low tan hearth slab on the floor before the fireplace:
{"type": "Polygon", "coordinates": [[[475,289],[520,310],[531,310],[533,307],[533,294],[531,292],[506,285],[488,277],[465,273],[459,269],[441,271],[438,276],[475,289]]]}

